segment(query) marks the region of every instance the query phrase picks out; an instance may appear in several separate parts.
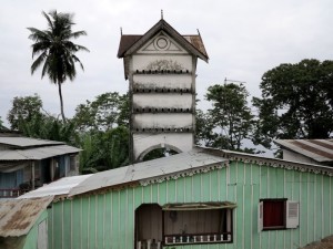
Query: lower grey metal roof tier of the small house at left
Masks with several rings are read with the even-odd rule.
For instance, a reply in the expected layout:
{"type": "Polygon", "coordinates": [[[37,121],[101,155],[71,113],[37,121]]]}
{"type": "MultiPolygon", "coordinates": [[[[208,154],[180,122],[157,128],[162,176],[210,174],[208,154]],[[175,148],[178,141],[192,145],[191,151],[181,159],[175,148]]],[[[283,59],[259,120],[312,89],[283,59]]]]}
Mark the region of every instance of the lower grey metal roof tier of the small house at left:
{"type": "MultiPolygon", "coordinates": [[[[1,160],[31,160],[31,159],[44,159],[53,156],[79,153],[81,148],[75,148],[69,145],[54,145],[36,147],[28,149],[14,149],[14,151],[0,151],[0,162],[1,160]]],[[[1,165],[0,165],[1,167],[1,165]]]]}

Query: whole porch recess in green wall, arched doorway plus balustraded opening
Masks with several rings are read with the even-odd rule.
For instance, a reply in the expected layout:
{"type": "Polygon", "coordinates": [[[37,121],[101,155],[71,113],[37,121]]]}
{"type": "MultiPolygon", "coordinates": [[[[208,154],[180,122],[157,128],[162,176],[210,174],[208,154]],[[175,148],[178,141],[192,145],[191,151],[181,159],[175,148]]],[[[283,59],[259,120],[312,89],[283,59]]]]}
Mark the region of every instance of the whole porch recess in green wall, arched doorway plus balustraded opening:
{"type": "Polygon", "coordinates": [[[135,210],[137,249],[232,242],[235,204],[144,204],[135,210]]]}

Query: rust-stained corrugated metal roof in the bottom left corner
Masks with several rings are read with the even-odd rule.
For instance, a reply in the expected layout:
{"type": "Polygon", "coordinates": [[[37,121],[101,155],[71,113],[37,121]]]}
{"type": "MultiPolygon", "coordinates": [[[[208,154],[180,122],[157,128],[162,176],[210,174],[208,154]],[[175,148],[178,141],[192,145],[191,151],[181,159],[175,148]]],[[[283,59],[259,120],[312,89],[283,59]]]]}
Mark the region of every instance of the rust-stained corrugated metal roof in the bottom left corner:
{"type": "Polygon", "coordinates": [[[27,235],[52,197],[0,201],[0,237],[27,235]]]}

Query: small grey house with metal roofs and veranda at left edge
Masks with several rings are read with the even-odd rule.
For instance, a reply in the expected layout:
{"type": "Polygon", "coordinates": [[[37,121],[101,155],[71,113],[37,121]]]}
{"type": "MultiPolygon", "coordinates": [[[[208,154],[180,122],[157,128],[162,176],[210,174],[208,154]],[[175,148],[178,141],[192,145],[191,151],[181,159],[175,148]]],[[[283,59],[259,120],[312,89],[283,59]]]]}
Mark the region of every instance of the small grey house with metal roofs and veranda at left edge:
{"type": "Polygon", "coordinates": [[[78,175],[81,149],[63,142],[0,134],[0,198],[12,198],[78,175]]]}

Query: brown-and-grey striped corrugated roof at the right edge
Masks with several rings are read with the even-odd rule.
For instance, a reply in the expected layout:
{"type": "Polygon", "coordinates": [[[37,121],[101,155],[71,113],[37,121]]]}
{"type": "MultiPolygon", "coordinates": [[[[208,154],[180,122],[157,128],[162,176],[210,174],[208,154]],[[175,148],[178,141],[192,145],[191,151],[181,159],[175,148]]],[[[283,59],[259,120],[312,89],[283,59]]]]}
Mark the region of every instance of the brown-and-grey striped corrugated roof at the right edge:
{"type": "Polygon", "coordinates": [[[316,162],[333,162],[333,139],[276,139],[274,142],[316,162]]]}

